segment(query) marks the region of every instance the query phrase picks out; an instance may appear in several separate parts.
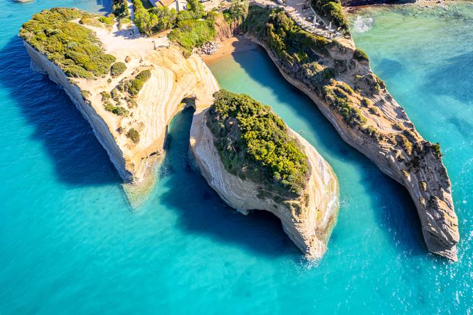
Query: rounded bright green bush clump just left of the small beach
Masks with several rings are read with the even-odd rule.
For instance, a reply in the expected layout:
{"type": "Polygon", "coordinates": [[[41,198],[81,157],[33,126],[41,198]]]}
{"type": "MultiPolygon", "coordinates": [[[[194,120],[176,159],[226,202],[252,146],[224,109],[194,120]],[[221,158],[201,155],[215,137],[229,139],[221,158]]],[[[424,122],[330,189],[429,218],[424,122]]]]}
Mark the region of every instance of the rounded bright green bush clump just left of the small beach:
{"type": "Polygon", "coordinates": [[[214,22],[210,20],[186,19],[177,23],[177,28],[169,33],[168,38],[176,42],[189,57],[192,50],[215,38],[214,22]]]}

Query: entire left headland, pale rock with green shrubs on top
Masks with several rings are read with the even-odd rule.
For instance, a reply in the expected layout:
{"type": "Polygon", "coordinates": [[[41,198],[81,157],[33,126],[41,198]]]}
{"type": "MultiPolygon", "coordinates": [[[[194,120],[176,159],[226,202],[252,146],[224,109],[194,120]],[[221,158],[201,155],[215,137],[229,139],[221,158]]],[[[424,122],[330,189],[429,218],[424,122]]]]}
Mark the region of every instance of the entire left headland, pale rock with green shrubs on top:
{"type": "Polygon", "coordinates": [[[184,58],[166,37],[102,21],[53,8],[34,15],[20,35],[34,68],[65,90],[120,177],[138,183],[163,154],[168,124],[186,99],[206,108],[218,83],[200,56],[184,58]]]}

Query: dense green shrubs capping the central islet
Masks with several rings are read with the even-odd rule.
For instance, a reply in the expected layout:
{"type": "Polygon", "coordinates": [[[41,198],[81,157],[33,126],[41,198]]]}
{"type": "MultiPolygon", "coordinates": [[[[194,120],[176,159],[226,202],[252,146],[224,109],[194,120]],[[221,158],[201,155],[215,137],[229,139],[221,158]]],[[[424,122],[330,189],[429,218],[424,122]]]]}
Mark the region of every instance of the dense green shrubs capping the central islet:
{"type": "Polygon", "coordinates": [[[221,90],[207,111],[207,126],[225,169],[281,195],[299,195],[309,175],[307,156],[273,113],[248,95],[221,90]]]}

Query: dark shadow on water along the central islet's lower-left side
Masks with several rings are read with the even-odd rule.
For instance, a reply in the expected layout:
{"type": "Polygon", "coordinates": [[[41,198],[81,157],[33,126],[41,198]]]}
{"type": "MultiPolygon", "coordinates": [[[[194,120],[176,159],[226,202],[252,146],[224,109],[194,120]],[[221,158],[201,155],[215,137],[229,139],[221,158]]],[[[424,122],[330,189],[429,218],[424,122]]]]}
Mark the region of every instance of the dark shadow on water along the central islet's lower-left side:
{"type": "Polygon", "coordinates": [[[239,245],[255,255],[291,255],[300,251],[282,231],[280,220],[266,211],[243,216],[221,200],[189,160],[189,131],[193,109],[178,113],[170,125],[168,152],[160,181],[166,192],[158,201],[179,214],[178,227],[211,236],[221,243],[239,245]]]}

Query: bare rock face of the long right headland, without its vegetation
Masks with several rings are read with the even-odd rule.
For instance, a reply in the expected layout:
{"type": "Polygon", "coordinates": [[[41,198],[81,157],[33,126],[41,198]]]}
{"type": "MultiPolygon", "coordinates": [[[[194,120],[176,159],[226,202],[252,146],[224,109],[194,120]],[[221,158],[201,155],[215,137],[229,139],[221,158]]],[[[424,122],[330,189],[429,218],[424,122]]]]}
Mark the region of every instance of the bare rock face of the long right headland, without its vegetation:
{"type": "MultiPolygon", "coordinates": [[[[326,105],[326,99],[319,98],[319,96],[310,89],[310,86],[307,86],[305,81],[293,77],[296,76],[296,74],[286,72],[277,56],[273,54],[271,49],[268,49],[268,47],[264,45],[264,42],[260,42],[250,34],[247,35],[247,38],[254,40],[266,50],[269,58],[271,58],[273,63],[278,67],[284,79],[312,99],[323,115],[326,116],[333,127],[335,127],[339,136],[341,136],[348,145],[351,145],[367,156],[382,172],[407,188],[417,208],[417,213],[422,224],[424,241],[428,250],[437,255],[447,257],[452,261],[456,261],[458,259],[456,243],[458,243],[459,239],[458,219],[451,198],[451,183],[447,170],[444,168],[441,159],[437,159],[431,150],[429,150],[430,147],[427,147],[425,152],[422,150],[422,147],[428,146],[428,142],[415,131],[414,124],[409,120],[399,104],[397,104],[392,97],[386,96],[389,92],[384,90],[380,92],[380,95],[374,97],[373,102],[378,103],[378,113],[382,114],[374,115],[367,113],[367,111],[364,111],[366,108],[362,106],[360,111],[363,111],[365,117],[371,120],[371,126],[376,126],[377,132],[387,135],[399,133],[399,131],[396,131],[396,129],[392,127],[392,124],[396,123],[412,129],[412,137],[414,137],[416,143],[421,146],[421,153],[419,153],[422,154],[421,156],[409,155],[408,152],[399,150],[399,145],[396,145],[396,143],[393,144],[390,138],[388,138],[385,143],[378,143],[378,140],[373,140],[374,138],[365,136],[362,131],[346,127],[340,115],[335,115],[330,106],[326,105]],[[397,158],[395,158],[395,156],[397,156],[397,158]],[[422,159],[422,161],[419,160],[420,163],[418,163],[418,165],[420,167],[416,167],[412,171],[407,172],[405,170],[406,167],[408,170],[411,170],[409,168],[410,159],[422,159]],[[402,163],[398,160],[402,161],[402,163]],[[424,186],[422,186],[422,184],[424,186]]],[[[362,67],[361,71],[371,73],[369,65],[360,65],[360,67],[362,67]]]]}

